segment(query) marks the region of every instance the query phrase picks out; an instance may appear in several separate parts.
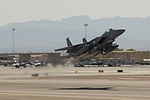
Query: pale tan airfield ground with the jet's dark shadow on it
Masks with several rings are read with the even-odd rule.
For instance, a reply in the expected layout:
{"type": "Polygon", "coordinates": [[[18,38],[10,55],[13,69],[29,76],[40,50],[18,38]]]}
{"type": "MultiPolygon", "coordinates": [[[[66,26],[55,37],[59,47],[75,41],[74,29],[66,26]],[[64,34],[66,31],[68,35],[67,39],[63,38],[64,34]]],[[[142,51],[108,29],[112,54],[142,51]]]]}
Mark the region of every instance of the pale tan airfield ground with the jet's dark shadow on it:
{"type": "Polygon", "coordinates": [[[150,100],[150,66],[0,66],[0,100],[150,100]]]}

